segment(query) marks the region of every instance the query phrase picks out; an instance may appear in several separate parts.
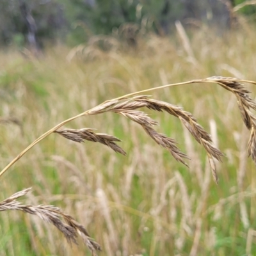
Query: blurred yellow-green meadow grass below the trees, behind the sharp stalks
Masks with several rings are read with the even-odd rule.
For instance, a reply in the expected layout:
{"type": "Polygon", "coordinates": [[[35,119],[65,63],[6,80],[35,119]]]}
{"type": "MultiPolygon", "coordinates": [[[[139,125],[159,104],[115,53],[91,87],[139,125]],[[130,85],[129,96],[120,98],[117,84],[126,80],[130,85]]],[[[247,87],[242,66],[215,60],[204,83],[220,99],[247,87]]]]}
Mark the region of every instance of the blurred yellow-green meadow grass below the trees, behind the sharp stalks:
{"type": "MultiPolygon", "coordinates": [[[[216,75],[255,81],[256,34],[246,28],[222,36],[204,29],[190,38],[182,33],[177,38],[149,36],[138,41],[137,49],[126,51],[122,45],[115,51],[95,44],[72,51],[58,46],[39,59],[1,52],[1,170],[45,131],[105,100],[216,75]]],[[[254,99],[255,88],[245,86],[254,99]]],[[[177,117],[143,108],[160,124],[157,132],[179,142],[191,159],[186,161],[189,168],[125,116],[82,116],[59,133],[67,138],[70,132],[85,132],[92,141],[47,136],[1,177],[1,199],[32,186],[24,205],[60,207],[86,227],[101,245],[101,255],[254,255],[255,166],[248,158],[250,132],[236,96],[216,83],[184,84],[149,94],[144,101],[182,106],[211,134],[225,155],[216,163],[218,186],[207,152],[177,117]],[[81,131],[83,127],[97,131],[81,131]],[[108,143],[122,140],[116,142],[127,155],[92,143],[104,139],[108,145],[106,138],[108,143]]],[[[37,216],[1,212],[1,256],[90,255],[79,238],[78,243],[70,247],[61,232],[37,216]]]]}

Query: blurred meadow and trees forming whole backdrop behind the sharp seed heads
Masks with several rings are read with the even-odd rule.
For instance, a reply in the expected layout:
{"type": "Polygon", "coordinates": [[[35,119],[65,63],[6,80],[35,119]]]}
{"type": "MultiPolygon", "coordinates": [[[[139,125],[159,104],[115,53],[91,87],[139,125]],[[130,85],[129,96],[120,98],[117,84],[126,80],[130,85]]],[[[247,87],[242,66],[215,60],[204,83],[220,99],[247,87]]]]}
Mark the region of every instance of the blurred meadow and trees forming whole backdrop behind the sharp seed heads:
{"type": "MultiPolygon", "coordinates": [[[[256,81],[253,4],[1,1],[1,170],[54,125],[105,100],[211,76],[256,81]]],[[[246,88],[255,99],[255,86],[246,88]]],[[[218,186],[204,148],[179,120],[145,110],[179,142],[189,168],[124,116],[84,116],[65,127],[116,136],[127,156],[51,134],[0,178],[0,201],[32,187],[20,200],[61,207],[102,246],[99,255],[256,255],[256,168],[236,97],[212,83],[147,94],[182,106],[212,135],[225,154],[218,186]]],[[[90,251],[37,216],[4,211],[0,255],[90,251]]]]}

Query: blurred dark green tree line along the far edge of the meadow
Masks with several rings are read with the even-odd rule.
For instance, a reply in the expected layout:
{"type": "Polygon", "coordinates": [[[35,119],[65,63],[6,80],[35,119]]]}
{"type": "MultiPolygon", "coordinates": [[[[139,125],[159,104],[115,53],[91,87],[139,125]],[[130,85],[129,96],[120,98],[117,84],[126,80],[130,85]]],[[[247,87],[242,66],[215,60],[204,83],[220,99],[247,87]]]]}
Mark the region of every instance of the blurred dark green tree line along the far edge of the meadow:
{"type": "MultiPolygon", "coordinates": [[[[0,0],[0,44],[42,47],[66,35],[70,44],[91,35],[109,34],[132,23],[159,35],[172,31],[175,20],[195,19],[228,28],[230,10],[244,0],[0,0]],[[228,5],[228,4],[229,5],[228,5]]],[[[241,13],[250,15],[255,6],[241,13]]],[[[131,37],[131,36],[130,36],[131,37]]],[[[132,39],[132,38],[131,38],[132,39]]]]}

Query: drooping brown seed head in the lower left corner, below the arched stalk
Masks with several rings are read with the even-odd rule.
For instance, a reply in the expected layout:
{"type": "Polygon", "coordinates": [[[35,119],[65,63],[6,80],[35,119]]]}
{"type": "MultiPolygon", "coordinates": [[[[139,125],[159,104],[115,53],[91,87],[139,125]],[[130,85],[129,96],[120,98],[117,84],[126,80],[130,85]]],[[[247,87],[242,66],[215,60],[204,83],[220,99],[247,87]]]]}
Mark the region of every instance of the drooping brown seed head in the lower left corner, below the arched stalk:
{"type": "Polygon", "coordinates": [[[0,202],[0,211],[22,211],[36,215],[58,228],[58,230],[64,234],[68,243],[77,244],[77,234],[79,234],[92,252],[92,255],[96,255],[95,252],[101,250],[100,245],[89,236],[86,228],[77,223],[74,218],[65,214],[60,208],[53,205],[23,205],[16,201],[17,198],[26,195],[30,190],[31,188],[24,189],[0,202]],[[66,223],[64,223],[61,218],[63,218],[66,223]]]}

